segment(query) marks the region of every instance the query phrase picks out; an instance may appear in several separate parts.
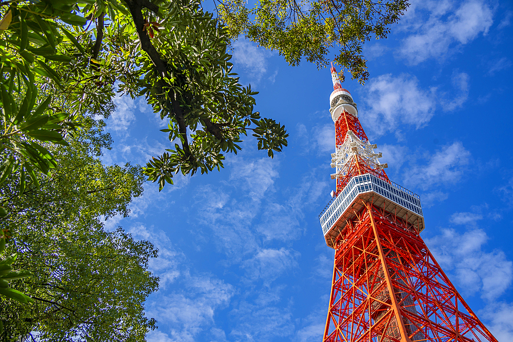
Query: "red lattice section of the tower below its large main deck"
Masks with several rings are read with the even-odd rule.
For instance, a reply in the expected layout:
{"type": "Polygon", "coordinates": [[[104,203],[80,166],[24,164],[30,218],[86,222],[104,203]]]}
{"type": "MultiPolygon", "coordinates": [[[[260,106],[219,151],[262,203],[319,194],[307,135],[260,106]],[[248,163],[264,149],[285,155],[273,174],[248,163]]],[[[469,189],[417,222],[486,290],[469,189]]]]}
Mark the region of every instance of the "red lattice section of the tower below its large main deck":
{"type": "Polygon", "coordinates": [[[418,235],[361,201],[335,239],[325,342],[497,342],[418,235]]]}

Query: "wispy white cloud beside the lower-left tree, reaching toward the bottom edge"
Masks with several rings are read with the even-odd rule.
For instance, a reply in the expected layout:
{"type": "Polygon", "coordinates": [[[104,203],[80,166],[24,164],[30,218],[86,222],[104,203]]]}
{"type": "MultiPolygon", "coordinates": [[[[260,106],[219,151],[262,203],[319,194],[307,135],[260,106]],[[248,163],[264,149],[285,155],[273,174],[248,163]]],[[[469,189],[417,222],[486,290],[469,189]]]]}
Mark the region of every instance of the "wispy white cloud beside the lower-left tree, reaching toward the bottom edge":
{"type": "Polygon", "coordinates": [[[230,303],[235,293],[233,286],[209,273],[191,274],[185,255],[175,250],[163,230],[135,224],[129,232],[159,249],[159,257],[149,260],[148,269],[160,277],[160,289],[147,299],[146,315],[154,317],[167,333],[149,332],[148,341],[195,341],[199,334],[215,326],[214,313],[230,303]],[[176,286],[171,288],[170,284],[176,286]]]}

